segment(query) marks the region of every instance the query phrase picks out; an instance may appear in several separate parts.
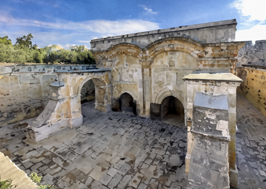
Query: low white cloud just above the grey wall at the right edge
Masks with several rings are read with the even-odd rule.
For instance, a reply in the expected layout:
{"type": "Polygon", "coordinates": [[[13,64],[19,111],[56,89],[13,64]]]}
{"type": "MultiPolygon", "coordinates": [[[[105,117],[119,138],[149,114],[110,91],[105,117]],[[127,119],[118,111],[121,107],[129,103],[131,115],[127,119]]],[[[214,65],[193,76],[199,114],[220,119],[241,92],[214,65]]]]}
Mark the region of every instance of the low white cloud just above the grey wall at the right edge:
{"type": "Polygon", "coordinates": [[[252,41],[255,44],[257,40],[266,39],[266,25],[256,25],[247,30],[235,32],[236,41],[252,41]]]}

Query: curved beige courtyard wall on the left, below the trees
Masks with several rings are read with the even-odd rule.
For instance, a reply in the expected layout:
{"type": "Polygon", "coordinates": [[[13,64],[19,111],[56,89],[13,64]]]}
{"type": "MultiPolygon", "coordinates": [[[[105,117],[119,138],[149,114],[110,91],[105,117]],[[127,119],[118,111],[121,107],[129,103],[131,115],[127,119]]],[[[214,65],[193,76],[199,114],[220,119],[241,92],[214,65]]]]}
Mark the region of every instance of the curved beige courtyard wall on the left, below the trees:
{"type": "Polygon", "coordinates": [[[48,73],[0,75],[0,125],[40,115],[55,80],[57,76],[48,73]]]}

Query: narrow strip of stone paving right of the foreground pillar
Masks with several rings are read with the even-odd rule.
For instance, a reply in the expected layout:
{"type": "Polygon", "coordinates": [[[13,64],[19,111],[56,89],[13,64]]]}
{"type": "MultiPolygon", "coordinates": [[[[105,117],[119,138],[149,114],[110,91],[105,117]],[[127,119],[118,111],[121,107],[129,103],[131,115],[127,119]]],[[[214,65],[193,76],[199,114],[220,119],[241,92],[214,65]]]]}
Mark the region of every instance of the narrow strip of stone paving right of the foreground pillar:
{"type": "Polygon", "coordinates": [[[237,95],[236,156],[239,189],[266,189],[266,117],[237,95]]]}

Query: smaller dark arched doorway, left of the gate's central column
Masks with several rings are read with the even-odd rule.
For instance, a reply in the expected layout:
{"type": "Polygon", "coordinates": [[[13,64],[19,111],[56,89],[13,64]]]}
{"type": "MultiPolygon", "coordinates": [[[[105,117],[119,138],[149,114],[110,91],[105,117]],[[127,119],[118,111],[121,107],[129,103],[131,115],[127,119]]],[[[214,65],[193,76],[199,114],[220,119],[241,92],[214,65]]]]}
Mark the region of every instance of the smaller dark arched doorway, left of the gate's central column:
{"type": "Polygon", "coordinates": [[[136,101],[132,95],[123,93],[119,98],[119,109],[124,113],[133,113],[136,115],[136,101]]]}

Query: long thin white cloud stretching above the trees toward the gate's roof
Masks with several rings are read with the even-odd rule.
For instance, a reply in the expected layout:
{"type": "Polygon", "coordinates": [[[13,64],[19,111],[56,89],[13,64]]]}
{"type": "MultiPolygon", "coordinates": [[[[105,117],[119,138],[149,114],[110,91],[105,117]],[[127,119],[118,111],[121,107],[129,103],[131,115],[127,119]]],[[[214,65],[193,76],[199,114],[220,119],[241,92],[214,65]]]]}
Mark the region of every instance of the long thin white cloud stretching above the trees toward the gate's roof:
{"type": "Polygon", "coordinates": [[[3,14],[0,14],[0,23],[5,25],[34,26],[47,29],[74,30],[79,32],[90,31],[109,36],[159,29],[158,23],[144,20],[88,20],[83,22],[72,22],[57,19],[56,22],[42,22],[38,20],[15,19],[10,15],[3,14]]]}

